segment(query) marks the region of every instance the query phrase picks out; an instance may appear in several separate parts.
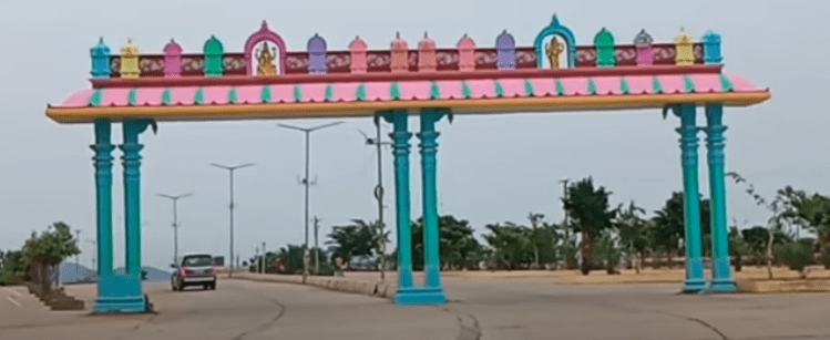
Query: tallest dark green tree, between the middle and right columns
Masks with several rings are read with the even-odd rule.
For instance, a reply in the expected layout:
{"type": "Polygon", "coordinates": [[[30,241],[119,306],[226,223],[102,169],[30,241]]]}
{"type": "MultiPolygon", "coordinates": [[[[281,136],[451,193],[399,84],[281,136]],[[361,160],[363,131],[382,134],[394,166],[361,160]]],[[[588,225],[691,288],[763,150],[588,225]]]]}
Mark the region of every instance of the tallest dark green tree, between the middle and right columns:
{"type": "Polygon", "coordinates": [[[611,210],[604,187],[594,187],[591,177],[567,187],[565,209],[573,219],[574,231],[582,233],[582,274],[587,275],[594,264],[594,241],[605,229],[613,226],[616,210],[611,210]]]}

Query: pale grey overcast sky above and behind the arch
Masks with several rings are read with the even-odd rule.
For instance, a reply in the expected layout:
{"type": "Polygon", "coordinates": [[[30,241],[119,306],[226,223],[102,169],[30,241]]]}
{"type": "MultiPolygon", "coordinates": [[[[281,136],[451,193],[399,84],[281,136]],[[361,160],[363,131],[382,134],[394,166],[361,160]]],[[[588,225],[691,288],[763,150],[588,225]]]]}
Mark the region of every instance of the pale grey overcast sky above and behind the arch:
{"type": "MultiPolygon", "coordinates": [[[[201,51],[211,34],[227,51],[242,51],[265,19],[289,50],[305,49],[315,32],[326,38],[329,49],[345,49],[357,34],[371,48],[387,48],[396,31],[414,47],[424,30],[439,47],[454,45],[464,33],[479,45],[492,45],[503,29],[518,44],[530,45],[554,12],[580,44],[591,43],[603,27],[618,42],[632,41],[643,28],[656,41],[672,41],[680,27],[696,38],[713,29],[723,34],[726,72],[772,90],[770,103],[726,114],[728,171],[744,174],[761,193],[772,195],[788,184],[830,192],[823,141],[830,125],[823,112],[830,51],[819,38],[830,29],[828,10],[824,1],[7,0],[0,6],[0,249],[18,248],[32,230],[58,220],[94,239],[88,147],[92,128],[53,123],[44,109],[89,86],[89,49],[101,35],[114,51],[127,38],[143,52],[160,52],[171,38],[185,51],[201,51]]],[[[311,173],[318,185],[311,190],[311,214],[322,220],[321,236],[350,218],[377,216],[371,196],[375,151],[357,132],[373,132],[373,126],[369,119],[347,122],[312,136],[311,173]]],[[[236,249],[243,258],[260,241],[269,249],[301,243],[303,188],[297,179],[303,173],[303,136],[276,123],[162,123],[157,135],[143,135],[145,264],[164,267],[172,258],[171,204],[155,193],[194,192],[180,203],[180,249],[227,257],[227,173],[208,166],[214,162],[258,164],[237,174],[236,249]]],[[[673,117],[662,120],[656,110],[442,121],[440,214],[469,219],[477,236],[488,223],[525,223],[530,212],[559,221],[559,181],[588,175],[614,193],[613,204],[634,199],[652,212],[682,187],[678,124],[673,117]]],[[[114,128],[116,143],[120,128],[114,128]]],[[[385,126],[385,135],[388,130],[385,126]]],[[[114,155],[121,157],[120,152],[114,155]]],[[[388,150],[383,156],[391,194],[388,150]]],[[[700,188],[707,193],[705,159],[701,147],[700,188]]],[[[421,206],[419,163],[413,148],[413,218],[421,206]]],[[[113,171],[115,254],[116,265],[122,265],[120,159],[113,171]]],[[[768,217],[740,187],[729,184],[729,198],[730,219],[762,223],[768,217]]],[[[387,195],[387,204],[392,203],[393,196],[387,195]]],[[[392,208],[387,216],[392,225],[392,208]]],[[[93,249],[83,244],[82,261],[88,266],[93,249]]]]}

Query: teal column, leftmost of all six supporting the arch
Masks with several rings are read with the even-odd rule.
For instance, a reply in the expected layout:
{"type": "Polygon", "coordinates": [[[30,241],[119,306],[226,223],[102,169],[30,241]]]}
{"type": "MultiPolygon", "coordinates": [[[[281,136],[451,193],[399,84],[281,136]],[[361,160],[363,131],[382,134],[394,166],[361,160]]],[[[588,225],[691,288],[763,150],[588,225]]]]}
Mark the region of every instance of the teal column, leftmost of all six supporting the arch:
{"type": "Polygon", "coordinates": [[[105,292],[112,291],[112,151],[115,146],[110,141],[111,124],[107,120],[95,121],[95,144],[90,147],[95,152],[95,212],[98,216],[98,299],[95,311],[106,311],[107,305],[114,302],[105,292]]]}

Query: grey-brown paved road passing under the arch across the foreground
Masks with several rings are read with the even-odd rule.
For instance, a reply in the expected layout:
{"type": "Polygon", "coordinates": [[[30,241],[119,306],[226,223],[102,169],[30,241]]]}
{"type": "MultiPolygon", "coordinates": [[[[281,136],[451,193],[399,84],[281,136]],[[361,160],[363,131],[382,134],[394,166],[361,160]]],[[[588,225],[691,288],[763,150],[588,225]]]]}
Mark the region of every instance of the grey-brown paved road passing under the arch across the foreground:
{"type": "MultiPolygon", "coordinates": [[[[222,280],[215,291],[150,285],[157,313],[143,316],[50,312],[22,289],[0,288],[0,339],[830,339],[827,293],[686,296],[677,285],[521,279],[445,285],[445,308],[243,280],[222,280]]],[[[70,292],[91,299],[94,286],[70,292]]]]}

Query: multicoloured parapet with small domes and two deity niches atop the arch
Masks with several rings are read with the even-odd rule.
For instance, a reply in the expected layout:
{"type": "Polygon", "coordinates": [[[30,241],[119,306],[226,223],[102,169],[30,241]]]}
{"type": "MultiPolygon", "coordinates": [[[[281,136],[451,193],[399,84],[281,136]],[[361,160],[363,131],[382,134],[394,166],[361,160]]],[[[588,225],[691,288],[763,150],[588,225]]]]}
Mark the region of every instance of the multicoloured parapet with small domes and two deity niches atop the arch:
{"type": "Polygon", "coordinates": [[[723,60],[720,37],[716,33],[709,32],[701,42],[694,42],[682,32],[674,43],[654,43],[644,30],[633,44],[615,44],[612,33],[603,29],[593,45],[577,45],[573,33],[555,16],[532,47],[516,47],[513,37],[504,31],[494,48],[479,48],[464,35],[454,49],[437,49],[424,34],[417,49],[409,49],[398,37],[389,50],[368,50],[358,37],[349,50],[327,51],[326,41],[315,34],[306,51],[287,51],[281,38],[263,22],[260,30],[246,41],[244,52],[225,53],[222,42],[212,37],[203,53],[183,53],[181,45],[171,41],[164,54],[141,54],[136,45],[127,43],[117,55],[110,53],[102,39],[91,55],[92,74],[98,79],[687,66],[719,64],[723,60]]]}

